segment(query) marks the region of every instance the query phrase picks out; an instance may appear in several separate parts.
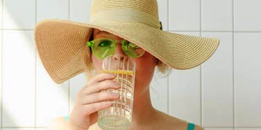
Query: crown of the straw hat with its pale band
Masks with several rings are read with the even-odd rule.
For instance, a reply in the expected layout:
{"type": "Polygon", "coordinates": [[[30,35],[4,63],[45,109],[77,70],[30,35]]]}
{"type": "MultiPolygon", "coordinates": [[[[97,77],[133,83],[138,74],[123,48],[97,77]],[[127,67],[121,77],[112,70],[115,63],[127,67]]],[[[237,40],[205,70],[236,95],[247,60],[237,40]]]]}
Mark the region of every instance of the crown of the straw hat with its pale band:
{"type": "Polygon", "coordinates": [[[156,0],[92,0],[90,21],[136,21],[160,28],[156,0]]]}

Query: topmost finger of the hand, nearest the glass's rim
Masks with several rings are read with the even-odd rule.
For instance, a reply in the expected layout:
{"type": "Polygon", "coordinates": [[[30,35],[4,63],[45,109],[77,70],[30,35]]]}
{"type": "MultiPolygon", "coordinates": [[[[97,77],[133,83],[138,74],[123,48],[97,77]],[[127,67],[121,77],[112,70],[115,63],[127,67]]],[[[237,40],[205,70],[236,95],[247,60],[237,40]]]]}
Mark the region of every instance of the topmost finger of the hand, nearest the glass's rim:
{"type": "Polygon", "coordinates": [[[90,82],[89,85],[94,84],[95,82],[101,82],[103,80],[112,80],[116,77],[113,73],[99,73],[98,75],[94,76],[90,82]]]}

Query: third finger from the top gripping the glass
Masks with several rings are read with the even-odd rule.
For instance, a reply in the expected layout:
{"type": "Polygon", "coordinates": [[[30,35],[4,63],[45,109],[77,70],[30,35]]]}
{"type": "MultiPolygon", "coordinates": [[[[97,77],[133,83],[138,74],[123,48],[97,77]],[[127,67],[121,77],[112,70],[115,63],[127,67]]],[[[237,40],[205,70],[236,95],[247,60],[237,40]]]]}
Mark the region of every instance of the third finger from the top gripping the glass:
{"type": "Polygon", "coordinates": [[[105,92],[105,93],[94,93],[92,95],[87,95],[84,97],[82,102],[83,105],[85,104],[93,104],[96,102],[102,102],[106,100],[117,100],[119,98],[119,94],[112,93],[112,92],[105,92]]]}

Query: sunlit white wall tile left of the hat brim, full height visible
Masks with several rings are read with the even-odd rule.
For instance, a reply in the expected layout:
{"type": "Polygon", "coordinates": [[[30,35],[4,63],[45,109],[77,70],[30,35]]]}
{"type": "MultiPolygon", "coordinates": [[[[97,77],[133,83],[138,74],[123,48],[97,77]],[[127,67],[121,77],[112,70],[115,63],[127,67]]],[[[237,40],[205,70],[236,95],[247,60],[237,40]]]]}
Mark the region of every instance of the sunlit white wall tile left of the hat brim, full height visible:
{"type": "Polygon", "coordinates": [[[33,31],[3,30],[3,127],[35,125],[33,31]]]}

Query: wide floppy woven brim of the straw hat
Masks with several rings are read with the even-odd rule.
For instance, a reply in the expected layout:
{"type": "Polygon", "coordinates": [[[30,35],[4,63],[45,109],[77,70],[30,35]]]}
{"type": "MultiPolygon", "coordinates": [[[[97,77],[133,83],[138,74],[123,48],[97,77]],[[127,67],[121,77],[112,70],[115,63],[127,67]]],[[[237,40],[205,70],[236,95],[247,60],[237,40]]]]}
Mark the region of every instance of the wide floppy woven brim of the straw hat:
{"type": "Polygon", "coordinates": [[[199,66],[209,59],[219,39],[167,32],[137,22],[79,23],[44,19],[35,26],[37,53],[54,82],[61,84],[84,72],[83,53],[92,28],[104,30],[137,44],[163,63],[176,69],[199,66]]]}

